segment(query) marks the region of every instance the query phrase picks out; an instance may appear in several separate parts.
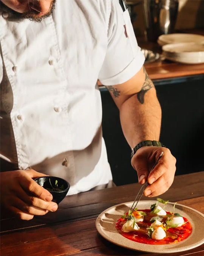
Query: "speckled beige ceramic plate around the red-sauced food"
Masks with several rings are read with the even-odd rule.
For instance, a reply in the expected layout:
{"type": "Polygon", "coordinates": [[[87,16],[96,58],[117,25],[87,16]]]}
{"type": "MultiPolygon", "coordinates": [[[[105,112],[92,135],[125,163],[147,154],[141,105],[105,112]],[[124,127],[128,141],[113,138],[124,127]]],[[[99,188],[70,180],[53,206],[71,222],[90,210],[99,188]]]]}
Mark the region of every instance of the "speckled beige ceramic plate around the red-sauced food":
{"type": "MultiPolygon", "coordinates": [[[[155,201],[140,201],[137,205],[138,209],[150,209],[151,204],[155,201]]],[[[165,210],[178,212],[186,217],[192,225],[192,233],[187,239],[168,245],[148,245],[145,243],[138,243],[123,237],[115,228],[117,220],[122,214],[128,212],[133,202],[117,204],[104,210],[96,220],[96,229],[99,234],[108,241],[136,251],[145,251],[151,253],[176,253],[179,251],[187,251],[189,249],[198,247],[204,243],[204,214],[182,204],[167,203],[165,210]]]]}

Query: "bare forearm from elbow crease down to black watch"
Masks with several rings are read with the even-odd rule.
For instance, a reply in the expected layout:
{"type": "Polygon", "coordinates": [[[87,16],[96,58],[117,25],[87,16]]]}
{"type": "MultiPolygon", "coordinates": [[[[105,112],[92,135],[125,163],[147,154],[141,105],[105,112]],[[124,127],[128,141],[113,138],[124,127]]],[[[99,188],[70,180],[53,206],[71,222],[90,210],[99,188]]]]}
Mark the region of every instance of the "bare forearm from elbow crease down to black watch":
{"type": "Polygon", "coordinates": [[[134,94],[120,108],[122,130],[131,148],[144,140],[159,140],[160,135],[161,107],[155,88],[141,94],[134,94]]]}

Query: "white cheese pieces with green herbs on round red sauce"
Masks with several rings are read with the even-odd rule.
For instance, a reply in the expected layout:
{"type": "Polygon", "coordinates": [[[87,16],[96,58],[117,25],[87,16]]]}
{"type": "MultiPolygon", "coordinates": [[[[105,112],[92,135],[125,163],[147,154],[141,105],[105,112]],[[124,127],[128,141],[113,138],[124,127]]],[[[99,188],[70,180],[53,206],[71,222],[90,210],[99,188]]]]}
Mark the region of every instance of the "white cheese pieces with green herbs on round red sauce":
{"type": "Polygon", "coordinates": [[[122,236],[139,243],[162,245],[181,242],[192,233],[191,223],[175,212],[175,205],[174,212],[165,210],[167,203],[157,198],[148,209],[129,210],[119,218],[116,229],[122,236]]]}

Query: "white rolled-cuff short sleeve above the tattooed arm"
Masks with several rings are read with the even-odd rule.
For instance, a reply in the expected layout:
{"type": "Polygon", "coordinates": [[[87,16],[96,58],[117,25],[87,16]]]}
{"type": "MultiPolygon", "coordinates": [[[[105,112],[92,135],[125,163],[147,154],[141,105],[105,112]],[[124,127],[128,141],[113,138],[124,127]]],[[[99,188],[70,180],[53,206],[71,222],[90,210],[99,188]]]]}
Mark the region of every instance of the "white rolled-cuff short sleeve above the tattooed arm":
{"type": "Polygon", "coordinates": [[[133,77],[144,64],[128,9],[122,10],[118,0],[110,0],[108,47],[99,72],[103,85],[117,85],[133,77]]]}

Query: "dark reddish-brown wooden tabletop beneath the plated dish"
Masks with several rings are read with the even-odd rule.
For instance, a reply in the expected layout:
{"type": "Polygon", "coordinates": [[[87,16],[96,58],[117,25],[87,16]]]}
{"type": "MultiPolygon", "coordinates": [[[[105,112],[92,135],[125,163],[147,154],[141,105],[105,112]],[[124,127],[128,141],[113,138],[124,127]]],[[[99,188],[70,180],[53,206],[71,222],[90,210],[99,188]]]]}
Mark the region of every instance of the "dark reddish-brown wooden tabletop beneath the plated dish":
{"type": "MultiPolygon", "coordinates": [[[[175,176],[170,189],[160,196],[164,200],[189,206],[204,214],[204,171],[175,176]]],[[[97,216],[111,206],[134,201],[141,185],[128,184],[114,188],[66,196],[56,212],[33,220],[9,218],[1,212],[2,256],[113,256],[145,255],[105,240],[97,232],[97,216]],[[5,218],[3,217],[5,216],[5,218]]],[[[142,196],[142,200],[149,198],[142,196]]],[[[156,200],[156,198],[151,198],[156,200]]],[[[203,256],[204,244],[188,251],[169,253],[169,256],[203,256]]],[[[166,254],[165,254],[166,255],[166,254]]]]}

